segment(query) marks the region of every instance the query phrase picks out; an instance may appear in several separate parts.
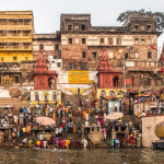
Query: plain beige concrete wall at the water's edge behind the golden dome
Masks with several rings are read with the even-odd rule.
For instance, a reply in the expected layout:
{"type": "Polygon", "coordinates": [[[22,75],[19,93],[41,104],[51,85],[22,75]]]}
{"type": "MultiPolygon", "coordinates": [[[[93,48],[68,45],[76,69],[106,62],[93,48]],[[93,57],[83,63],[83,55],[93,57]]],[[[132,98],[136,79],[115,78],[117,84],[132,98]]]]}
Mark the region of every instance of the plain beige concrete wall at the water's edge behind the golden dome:
{"type": "Polygon", "coordinates": [[[150,116],[142,118],[142,145],[152,147],[152,141],[160,140],[155,134],[155,126],[164,121],[164,116],[150,116]]]}

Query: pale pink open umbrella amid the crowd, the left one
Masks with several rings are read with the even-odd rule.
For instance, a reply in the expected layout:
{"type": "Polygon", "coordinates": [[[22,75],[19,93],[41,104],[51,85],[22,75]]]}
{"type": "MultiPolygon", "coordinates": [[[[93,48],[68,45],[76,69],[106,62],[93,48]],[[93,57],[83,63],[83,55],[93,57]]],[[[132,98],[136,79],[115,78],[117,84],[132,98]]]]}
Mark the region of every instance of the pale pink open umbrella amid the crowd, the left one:
{"type": "Polygon", "coordinates": [[[56,121],[49,117],[37,117],[36,121],[42,126],[51,126],[56,124],[56,121]]]}

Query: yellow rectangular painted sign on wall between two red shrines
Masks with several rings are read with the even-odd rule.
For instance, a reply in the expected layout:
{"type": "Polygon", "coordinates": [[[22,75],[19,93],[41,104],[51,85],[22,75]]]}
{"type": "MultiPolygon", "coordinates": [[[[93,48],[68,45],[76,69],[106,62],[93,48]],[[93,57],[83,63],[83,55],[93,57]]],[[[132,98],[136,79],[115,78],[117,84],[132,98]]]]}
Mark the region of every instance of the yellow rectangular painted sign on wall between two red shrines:
{"type": "Polygon", "coordinates": [[[69,84],[87,84],[89,71],[68,71],[69,84]]]}

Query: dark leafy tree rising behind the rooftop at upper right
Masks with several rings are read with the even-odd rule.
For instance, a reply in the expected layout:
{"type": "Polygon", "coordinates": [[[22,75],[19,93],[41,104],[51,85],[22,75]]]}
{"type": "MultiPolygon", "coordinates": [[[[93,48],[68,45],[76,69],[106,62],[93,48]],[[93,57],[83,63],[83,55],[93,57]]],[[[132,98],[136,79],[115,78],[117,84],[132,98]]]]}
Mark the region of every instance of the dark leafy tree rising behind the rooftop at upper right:
{"type": "Polygon", "coordinates": [[[128,17],[133,14],[133,13],[139,13],[139,14],[149,14],[150,17],[155,17],[156,19],[156,28],[157,31],[164,30],[164,12],[152,12],[152,11],[145,11],[144,9],[141,9],[139,11],[126,11],[119,14],[117,21],[122,23],[122,25],[126,25],[128,17]]]}

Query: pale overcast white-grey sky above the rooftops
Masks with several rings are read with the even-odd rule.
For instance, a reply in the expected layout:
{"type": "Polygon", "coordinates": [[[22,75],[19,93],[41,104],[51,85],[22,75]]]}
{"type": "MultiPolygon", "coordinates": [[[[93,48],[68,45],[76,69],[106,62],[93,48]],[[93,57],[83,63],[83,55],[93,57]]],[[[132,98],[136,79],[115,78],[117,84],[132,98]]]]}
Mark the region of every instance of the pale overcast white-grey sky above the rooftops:
{"type": "MultiPolygon", "coordinates": [[[[117,17],[127,10],[164,12],[164,0],[0,0],[0,11],[32,10],[36,33],[60,30],[61,13],[91,13],[93,26],[119,26],[117,17]]],[[[159,37],[159,49],[164,34],[159,37]]]]}

